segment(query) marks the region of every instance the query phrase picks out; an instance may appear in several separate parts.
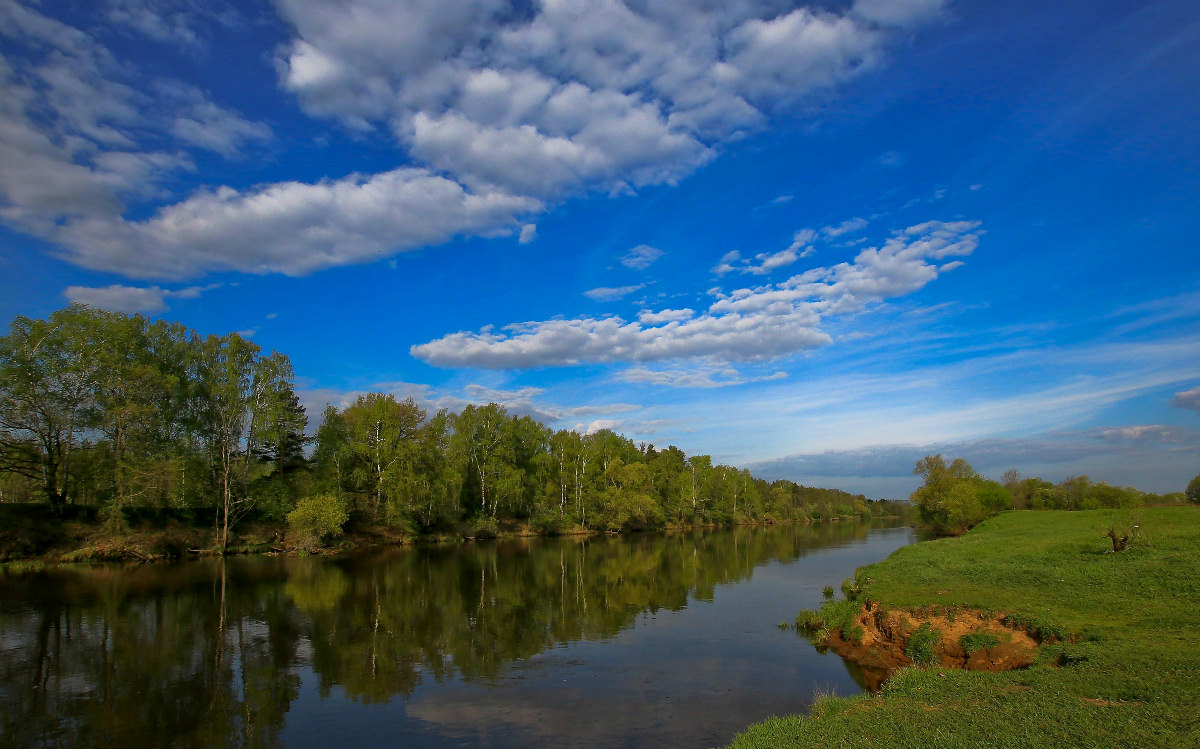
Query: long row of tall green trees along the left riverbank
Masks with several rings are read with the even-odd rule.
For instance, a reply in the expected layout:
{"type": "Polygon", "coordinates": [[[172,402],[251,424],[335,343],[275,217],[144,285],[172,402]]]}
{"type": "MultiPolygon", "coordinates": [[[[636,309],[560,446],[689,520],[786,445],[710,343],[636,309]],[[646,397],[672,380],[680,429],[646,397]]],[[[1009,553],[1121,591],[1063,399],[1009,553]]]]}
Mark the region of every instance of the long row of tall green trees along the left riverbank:
{"type": "Polygon", "coordinates": [[[71,305],[46,320],[17,317],[0,337],[0,501],[100,508],[118,531],[133,509],[215,508],[224,545],[247,514],[283,520],[331,503],[334,515],[406,532],[479,534],[515,522],[554,533],[906,508],[767,483],[608,430],[553,431],[496,403],[430,414],[372,393],[328,407],[314,439],[306,425],[288,358],[238,334],[71,305]]]}

